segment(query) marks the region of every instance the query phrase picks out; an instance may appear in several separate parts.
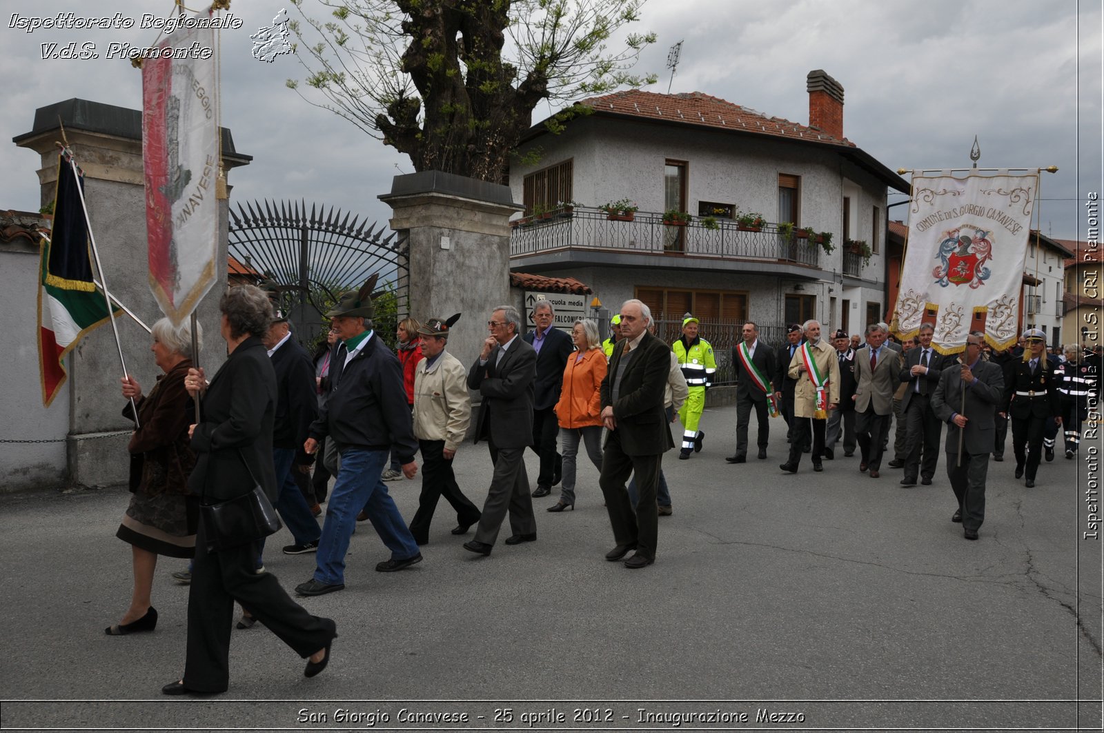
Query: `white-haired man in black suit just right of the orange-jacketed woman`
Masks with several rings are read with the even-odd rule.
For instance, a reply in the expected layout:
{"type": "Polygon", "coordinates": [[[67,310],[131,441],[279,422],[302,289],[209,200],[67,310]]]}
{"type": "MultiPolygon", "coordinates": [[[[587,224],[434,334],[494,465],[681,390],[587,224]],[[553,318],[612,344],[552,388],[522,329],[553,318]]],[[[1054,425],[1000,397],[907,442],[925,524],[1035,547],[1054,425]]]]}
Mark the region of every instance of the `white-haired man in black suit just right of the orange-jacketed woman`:
{"type": "Polygon", "coordinates": [[[660,459],[675,447],[664,411],[671,350],[648,333],[651,311],[641,301],[626,300],[620,316],[622,339],[602,380],[602,422],[609,434],[598,486],[617,543],[606,560],[616,562],[636,550],[625,566],[639,569],[656,561],[660,459]],[[636,480],[635,510],[625,488],[629,475],[636,480]]]}

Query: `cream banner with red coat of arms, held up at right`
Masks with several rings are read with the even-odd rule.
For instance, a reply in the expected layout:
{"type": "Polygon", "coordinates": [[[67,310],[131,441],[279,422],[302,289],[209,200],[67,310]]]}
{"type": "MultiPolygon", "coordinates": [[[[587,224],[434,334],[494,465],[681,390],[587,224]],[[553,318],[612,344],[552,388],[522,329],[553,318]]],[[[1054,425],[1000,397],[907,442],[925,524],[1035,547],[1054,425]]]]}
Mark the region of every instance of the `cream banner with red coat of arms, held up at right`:
{"type": "Polygon", "coordinates": [[[898,336],[916,336],[924,310],[937,308],[932,346],[941,353],[966,348],[975,312],[988,311],[985,336],[994,348],[1016,342],[1038,188],[1038,172],[913,176],[898,336]]]}

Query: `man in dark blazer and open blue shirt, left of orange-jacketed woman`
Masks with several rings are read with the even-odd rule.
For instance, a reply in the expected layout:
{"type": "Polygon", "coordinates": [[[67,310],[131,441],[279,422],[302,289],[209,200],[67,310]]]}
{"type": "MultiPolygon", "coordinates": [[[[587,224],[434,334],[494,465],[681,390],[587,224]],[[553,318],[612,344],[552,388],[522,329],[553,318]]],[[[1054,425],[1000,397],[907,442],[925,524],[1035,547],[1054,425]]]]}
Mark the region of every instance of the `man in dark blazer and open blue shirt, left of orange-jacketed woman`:
{"type": "Polygon", "coordinates": [[[546,497],[552,487],[560,482],[563,457],[556,453],[555,438],[560,434],[555,403],[560,402],[563,385],[563,370],[567,355],[574,348],[571,337],[552,322],[555,311],[548,300],[538,300],[533,307],[537,328],[522,338],[537,351],[537,380],[533,382],[533,443],[532,448],[541,457],[541,470],[537,475],[534,497],[546,497]]]}

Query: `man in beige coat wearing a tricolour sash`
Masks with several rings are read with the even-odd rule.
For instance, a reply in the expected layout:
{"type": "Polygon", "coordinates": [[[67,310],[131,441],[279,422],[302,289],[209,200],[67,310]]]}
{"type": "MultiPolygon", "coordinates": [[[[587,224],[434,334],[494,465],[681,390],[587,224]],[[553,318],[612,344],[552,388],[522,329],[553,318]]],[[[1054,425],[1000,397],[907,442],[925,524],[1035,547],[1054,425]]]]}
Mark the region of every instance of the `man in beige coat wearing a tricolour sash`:
{"type": "Polygon", "coordinates": [[[797,381],[794,387],[793,439],[789,460],[778,466],[796,474],[802,463],[803,446],[813,444],[813,470],[821,471],[825,449],[825,427],[828,412],[839,406],[839,361],[836,349],[820,338],[820,322],[807,320],[802,326],[804,343],[789,361],[787,373],[797,381]],[[811,434],[811,435],[810,435],[811,434]]]}

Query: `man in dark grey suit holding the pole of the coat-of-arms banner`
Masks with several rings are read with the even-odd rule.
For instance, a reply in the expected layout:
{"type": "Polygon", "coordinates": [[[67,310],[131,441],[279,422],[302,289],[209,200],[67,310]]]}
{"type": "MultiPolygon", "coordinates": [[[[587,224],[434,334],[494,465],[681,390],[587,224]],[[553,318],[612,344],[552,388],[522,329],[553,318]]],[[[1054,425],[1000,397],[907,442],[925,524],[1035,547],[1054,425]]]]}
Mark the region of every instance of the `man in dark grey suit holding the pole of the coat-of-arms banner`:
{"type": "Polygon", "coordinates": [[[958,510],[951,521],[963,523],[963,537],[967,540],[977,539],[977,530],[985,520],[985,477],[997,429],[994,415],[1005,390],[1000,366],[981,359],[984,344],[985,337],[977,331],[966,337],[963,363],[943,370],[932,395],[932,410],[948,425],[947,478],[958,500],[958,510]]]}

